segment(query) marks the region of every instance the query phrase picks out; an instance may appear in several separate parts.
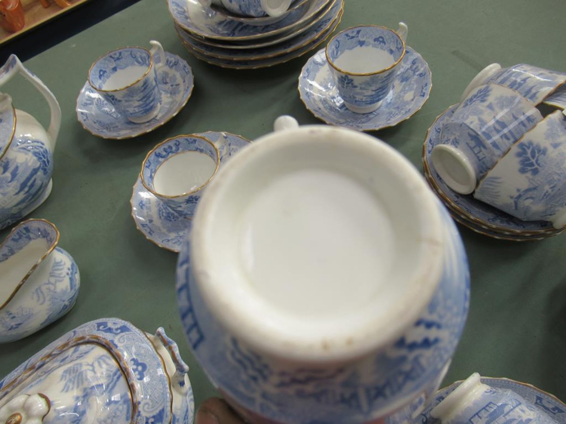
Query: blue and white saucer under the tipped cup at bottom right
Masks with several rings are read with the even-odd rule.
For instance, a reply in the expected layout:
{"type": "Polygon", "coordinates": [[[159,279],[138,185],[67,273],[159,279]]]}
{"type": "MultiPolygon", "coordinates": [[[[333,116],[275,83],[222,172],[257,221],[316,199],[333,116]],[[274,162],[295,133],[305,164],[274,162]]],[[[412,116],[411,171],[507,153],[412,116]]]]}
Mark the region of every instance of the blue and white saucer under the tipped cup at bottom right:
{"type": "MultiPolygon", "coordinates": [[[[501,390],[512,390],[517,393],[517,395],[524,397],[526,401],[533,404],[535,408],[539,409],[542,413],[554,419],[554,421],[559,424],[566,424],[566,404],[562,403],[550,393],[543,392],[530,384],[520,383],[508,378],[482,377],[481,382],[501,390]]],[[[432,418],[430,412],[436,405],[443,401],[445,397],[452,393],[460,383],[462,382],[452,383],[450,386],[441,388],[436,392],[423,412],[415,417],[413,424],[440,424],[440,420],[432,418]]]]}

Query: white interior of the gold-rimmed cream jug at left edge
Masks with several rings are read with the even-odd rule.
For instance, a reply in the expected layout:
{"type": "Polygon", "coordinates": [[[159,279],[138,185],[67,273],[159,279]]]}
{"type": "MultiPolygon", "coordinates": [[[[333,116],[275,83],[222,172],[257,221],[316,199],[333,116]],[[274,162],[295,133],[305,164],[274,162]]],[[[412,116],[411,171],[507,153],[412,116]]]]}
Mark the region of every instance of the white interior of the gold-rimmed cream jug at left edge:
{"type": "Polygon", "coordinates": [[[19,252],[0,262],[0,305],[11,297],[16,287],[49,248],[47,240],[35,239],[19,252]]]}

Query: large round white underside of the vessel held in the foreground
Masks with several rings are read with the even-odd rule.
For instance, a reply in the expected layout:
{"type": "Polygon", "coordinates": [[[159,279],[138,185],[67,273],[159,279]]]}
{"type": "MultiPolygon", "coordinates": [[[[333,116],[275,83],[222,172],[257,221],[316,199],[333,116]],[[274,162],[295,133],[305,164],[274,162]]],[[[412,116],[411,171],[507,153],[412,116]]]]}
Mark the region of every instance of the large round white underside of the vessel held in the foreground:
{"type": "Polygon", "coordinates": [[[191,257],[203,298],[238,338],[301,360],[344,359],[388,343],[426,306],[440,225],[434,196],[395,150],[301,127],[261,138],[211,181],[191,257]]]}

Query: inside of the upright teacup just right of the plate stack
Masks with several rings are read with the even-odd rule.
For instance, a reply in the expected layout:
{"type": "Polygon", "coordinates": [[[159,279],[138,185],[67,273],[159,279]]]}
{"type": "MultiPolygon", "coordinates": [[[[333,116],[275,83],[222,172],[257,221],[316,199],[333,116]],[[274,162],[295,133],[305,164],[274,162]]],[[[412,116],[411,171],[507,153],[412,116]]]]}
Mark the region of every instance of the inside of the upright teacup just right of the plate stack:
{"type": "Polygon", "coordinates": [[[405,54],[405,43],[392,29],[367,25],[338,33],[326,53],[336,70],[363,75],[395,66],[405,54]]]}

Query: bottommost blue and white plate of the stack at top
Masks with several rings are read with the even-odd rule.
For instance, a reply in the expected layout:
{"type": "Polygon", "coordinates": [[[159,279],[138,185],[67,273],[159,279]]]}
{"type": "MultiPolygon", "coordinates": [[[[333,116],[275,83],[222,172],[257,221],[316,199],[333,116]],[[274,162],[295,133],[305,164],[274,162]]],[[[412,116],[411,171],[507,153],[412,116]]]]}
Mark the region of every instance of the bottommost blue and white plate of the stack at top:
{"type": "Polygon", "coordinates": [[[219,59],[212,56],[205,56],[201,53],[196,52],[193,50],[189,45],[185,44],[185,47],[191,54],[193,54],[196,58],[200,60],[204,60],[204,62],[220,66],[222,68],[230,68],[230,69],[259,69],[259,68],[267,68],[270,66],[275,66],[277,64],[288,62],[291,59],[295,59],[301,57],[303,54],[308,53],[312,49],[315,49],[324,41],[327,40],[328,37],[335,31],[335,29],[340,24],[342,19],[342,15],[344,14],[343,10],[341,9],[338,18],[331,24],[331,26],[326,29],[323,33],[320,34],[315,40],[311,41],[307,45],[301,47],[300,49],[290,51],[289,53],[285,53],[282,55],[278,55],[277,57],[269,58],[269,59],[257,59],[257,60],[238,60],[238,62],[234,62],[234,60],[228,59],[219,59]]]}

